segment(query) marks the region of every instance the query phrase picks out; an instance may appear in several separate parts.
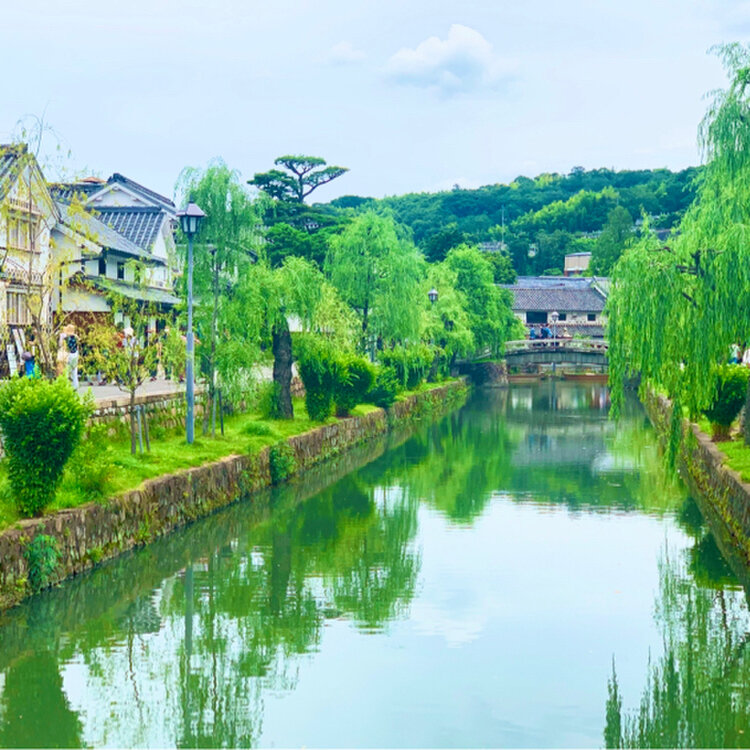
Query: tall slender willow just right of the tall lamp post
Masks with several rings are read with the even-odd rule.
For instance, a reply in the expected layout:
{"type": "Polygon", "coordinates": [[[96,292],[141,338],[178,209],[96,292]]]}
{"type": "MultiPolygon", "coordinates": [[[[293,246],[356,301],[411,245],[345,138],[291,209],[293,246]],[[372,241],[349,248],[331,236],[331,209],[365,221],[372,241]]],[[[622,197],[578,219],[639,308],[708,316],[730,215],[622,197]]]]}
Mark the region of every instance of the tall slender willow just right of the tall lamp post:
{"type": "Polygon", "coordinates": [[[208,382],[211,431],[215,434],[219,360],[230,380],[233,376],[236,379],[244,364],[243,358],[238,358],[232,366],[232,359],[238,354],[237,347],[218,335],[224,314],[222,307],[256,256],[260,221],[239,173],[221,160],[212,162],[205,170],[184,169],[178,192],[206,213],[194,254],[193,288],[200,341],[198,352],[208,382]],[[223,344],[227,346],[221,350],[223,344]]]}

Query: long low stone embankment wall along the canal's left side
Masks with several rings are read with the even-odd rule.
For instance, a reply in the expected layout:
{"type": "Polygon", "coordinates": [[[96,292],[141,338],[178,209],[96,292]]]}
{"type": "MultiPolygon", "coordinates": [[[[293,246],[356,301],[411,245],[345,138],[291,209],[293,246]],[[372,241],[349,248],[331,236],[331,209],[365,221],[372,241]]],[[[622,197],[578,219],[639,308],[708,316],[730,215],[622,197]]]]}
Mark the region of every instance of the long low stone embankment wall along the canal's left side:
{"type": "MultiPolygon", "coordinates": [[[[286,442],[294,451],[296,473],[394,428],[440,416],[460,404],[467,391],[465,382],[454,381],[396,402],[387,412],[378,409],[295,435],[286,442]]],[[[269,455],[270,449],[264,448],[252,455],[228,456],[148,480],[104,503],[25,520],[0,532],[0,609],[32,593],[27,558],[40,535],[51,538],[44,543],[56,550],[54,571],[45,580],[52,585],[269,487],[269,455]]]]}

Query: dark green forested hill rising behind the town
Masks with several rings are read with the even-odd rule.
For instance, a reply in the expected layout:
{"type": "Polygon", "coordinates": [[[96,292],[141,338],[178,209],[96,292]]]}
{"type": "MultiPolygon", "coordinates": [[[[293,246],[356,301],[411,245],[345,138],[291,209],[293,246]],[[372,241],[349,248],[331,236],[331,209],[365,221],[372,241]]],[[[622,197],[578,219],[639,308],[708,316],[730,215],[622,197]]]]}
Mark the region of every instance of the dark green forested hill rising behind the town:
{"type": "Polygon", "coordinates": [[[461,242],[494,242],[505,248],[519,274],[560,273],[565,254],[587,250],[593,253],[594,271],[604,274],[644,213],[652,228],[679,222],[693,200],[699,172],[696,167],[680,172],[575,167],[568,175],[518,177],[509,185],[379,200],[343,196],[327,205],[390,209],[433,261],[461,242]]]}

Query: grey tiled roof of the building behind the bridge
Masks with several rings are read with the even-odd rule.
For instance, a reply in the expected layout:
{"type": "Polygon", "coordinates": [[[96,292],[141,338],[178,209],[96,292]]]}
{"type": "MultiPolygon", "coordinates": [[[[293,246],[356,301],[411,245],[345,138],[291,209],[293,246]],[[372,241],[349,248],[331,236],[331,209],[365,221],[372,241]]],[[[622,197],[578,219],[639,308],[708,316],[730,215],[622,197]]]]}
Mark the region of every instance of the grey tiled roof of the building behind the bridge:
{"type": "Polygon", "coordinates": [[[513,310],[557,310],[593,312],[604,310],[605,296],[590,278],[519,276],[515,284],[504,284],[513,294],[513,310]]]}

